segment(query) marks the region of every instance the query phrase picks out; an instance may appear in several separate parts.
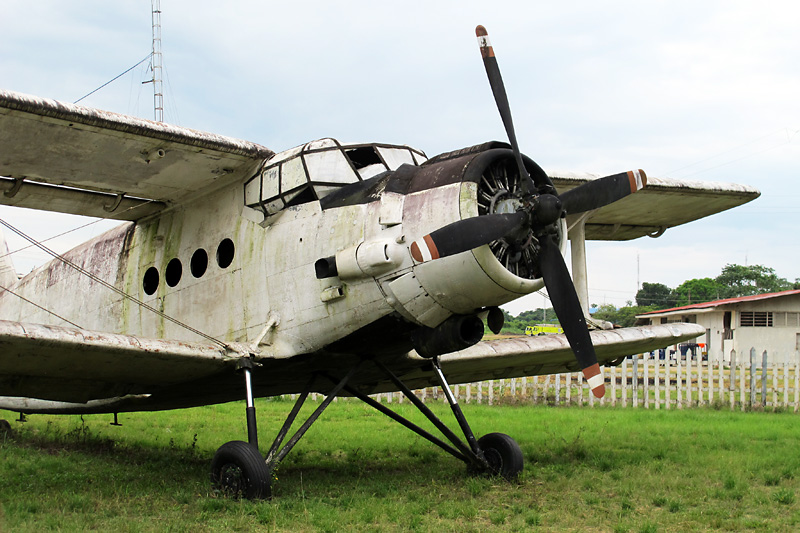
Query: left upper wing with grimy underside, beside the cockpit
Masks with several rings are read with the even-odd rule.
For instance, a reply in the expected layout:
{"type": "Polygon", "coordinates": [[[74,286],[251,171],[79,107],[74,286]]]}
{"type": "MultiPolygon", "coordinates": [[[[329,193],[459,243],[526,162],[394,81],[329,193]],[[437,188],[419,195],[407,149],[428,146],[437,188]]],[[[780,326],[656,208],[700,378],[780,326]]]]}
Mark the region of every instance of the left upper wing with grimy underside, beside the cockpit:
{"type": "Polygon", "coordinates": [[[253,175],[268,148],[0,90],[0,203],[138,220],[253,175]]]}

